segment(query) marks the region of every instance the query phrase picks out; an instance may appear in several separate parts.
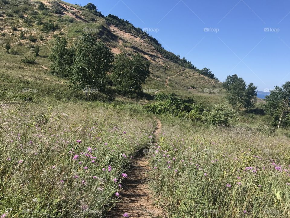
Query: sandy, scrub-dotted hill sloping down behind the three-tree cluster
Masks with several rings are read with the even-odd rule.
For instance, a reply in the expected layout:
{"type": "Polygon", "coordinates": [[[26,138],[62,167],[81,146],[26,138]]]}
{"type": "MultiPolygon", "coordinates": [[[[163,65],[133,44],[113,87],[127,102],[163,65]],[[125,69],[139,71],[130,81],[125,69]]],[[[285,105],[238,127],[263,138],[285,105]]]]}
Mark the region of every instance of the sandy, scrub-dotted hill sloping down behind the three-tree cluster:
{"type": "MultiPolygon", "coordinates": [[[[222,98],[221,92],[212,95],[213,93],[203,91],[205,88],[221,88],[220,82],[198,73],[198,69],[191,62],[166,51],[155,38],[134,27],[129,21],[114,15],[104,17],[99,12],[63,1],[41,2],[45,10],[41,10],[39,1],[34,0],[1,2],[2,78],[9,77],[10,80],[21,84],[29,83],[31,89],[45,86],[45,92],[53,94],[52,86],[60,88],[65,85],[63,79],[48,74],[50,61],[47,57],[54,43],[53,35],[62,34],[67,38],[69,45],[73,45],[82,32],[91,32],[105,41],[114,54],[126,53],[131,56],[140,53],[151,62],[150,78],[143,84],[144,91],[148,94],[162,90],[175,92],[180,97],[192,97],[198,101],[208,99],[205,100],[207,103],[222,98]],[[24,33],[22,39],[19,38],[21,32],[24,33]],[[5,53],[4,47],[7,42],[11,45],[10,54],[5,53]],[[22,63],[21,59],[24,57],[33,57],[36,45],[40,46],[37,64],[22,63]],[[216,98],[217,94],[219,98],[216,98]]],[[[21,90],[18,86],[18,92],[19,88],[21,90]]],[[[27,85],[22,88],[27,88],[27,85]]]]}

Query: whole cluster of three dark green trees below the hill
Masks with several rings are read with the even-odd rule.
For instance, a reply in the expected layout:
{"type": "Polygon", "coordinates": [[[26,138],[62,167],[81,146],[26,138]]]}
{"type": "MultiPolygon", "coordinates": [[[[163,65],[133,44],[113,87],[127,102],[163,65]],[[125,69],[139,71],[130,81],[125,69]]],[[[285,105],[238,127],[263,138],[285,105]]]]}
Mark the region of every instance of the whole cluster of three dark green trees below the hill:
{"type": "Polygon", "coordinates": [[[83,90],[87,97],[95,92],[106,93],[109,86],[125,95],[142,92],[141,84],[150,74],[150,61],[140,54],[131,58],[118,54],[114,58],[110,48],[91,33],[82,33],[71,47],[61,35],[54,38],[50,73],[67,78],[70,88],[83,90]]]}

